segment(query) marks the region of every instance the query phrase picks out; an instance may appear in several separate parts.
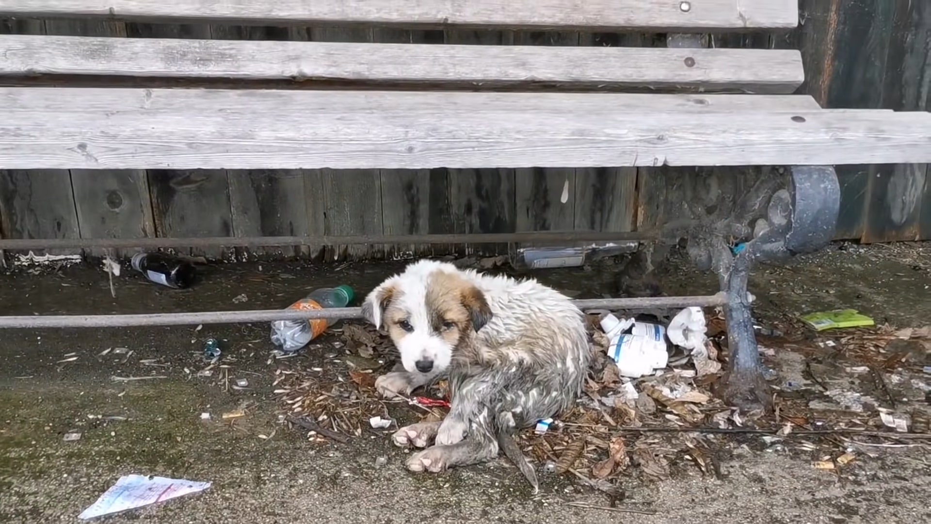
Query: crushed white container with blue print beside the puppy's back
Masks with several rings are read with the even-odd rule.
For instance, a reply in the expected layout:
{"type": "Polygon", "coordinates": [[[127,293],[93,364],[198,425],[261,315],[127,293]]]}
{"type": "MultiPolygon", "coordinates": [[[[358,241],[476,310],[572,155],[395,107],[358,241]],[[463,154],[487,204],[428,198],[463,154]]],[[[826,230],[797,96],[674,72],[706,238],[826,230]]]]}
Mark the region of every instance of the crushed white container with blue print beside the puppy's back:
{"type": "Polygon", "coordinates": [[[608,356],[614,359],[621,377],[638,379],[668,364],[666,328],[662,325],[622,321],[609,313],[601,319],[601,329],[610,341],[608,356]]]}

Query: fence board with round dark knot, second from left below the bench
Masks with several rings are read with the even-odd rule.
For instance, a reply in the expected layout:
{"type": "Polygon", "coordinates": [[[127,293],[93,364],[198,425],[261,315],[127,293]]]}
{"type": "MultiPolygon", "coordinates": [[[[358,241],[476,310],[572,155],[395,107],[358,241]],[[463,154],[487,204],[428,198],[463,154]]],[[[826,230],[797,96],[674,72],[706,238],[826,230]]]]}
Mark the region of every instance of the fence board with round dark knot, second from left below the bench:
{"type": "MultiPolygon", "coordinates": [[[[86,239],[138,239],[155,237],[149,182],[142,171],[71,172],[74,209],[86,239]]],[[[114,250],[112,255],[130,252],[114,250]]],[[[104,256],[102,250],[88,255],[104,256]]]]}

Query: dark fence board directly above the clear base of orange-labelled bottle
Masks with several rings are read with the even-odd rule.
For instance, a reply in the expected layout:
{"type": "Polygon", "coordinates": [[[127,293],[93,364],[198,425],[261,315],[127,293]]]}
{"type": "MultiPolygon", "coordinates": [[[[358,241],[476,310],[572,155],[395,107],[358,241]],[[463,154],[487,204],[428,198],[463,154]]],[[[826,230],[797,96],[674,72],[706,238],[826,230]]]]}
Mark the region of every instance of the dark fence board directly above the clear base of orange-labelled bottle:
{"type": "MultiPolygon", "coordinates": [[[[290,237],[310,234],[304,172],[227,172],[233,234],[237,237],[290,237]]],[[[250,248],[252,255],[291,257],[294,246],[250,248]]]]}

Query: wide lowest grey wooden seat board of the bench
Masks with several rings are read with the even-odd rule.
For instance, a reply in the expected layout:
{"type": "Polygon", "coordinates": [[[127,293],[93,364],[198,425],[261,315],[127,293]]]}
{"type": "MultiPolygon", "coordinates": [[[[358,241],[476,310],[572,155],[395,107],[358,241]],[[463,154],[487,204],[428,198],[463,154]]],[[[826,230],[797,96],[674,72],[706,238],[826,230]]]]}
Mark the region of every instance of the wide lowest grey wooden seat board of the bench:
{"type": "Polygon", "coordinates": [[[0,169],[931,162],[926,112],[680,111],[629,96],[7,88],[0,169]]]}

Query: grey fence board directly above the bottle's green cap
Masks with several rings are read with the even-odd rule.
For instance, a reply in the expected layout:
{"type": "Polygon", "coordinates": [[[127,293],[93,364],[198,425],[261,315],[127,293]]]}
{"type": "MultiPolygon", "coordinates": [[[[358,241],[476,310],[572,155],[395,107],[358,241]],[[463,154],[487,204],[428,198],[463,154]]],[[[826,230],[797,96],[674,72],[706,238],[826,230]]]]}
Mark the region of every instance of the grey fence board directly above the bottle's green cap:
{"type": "MultiPolygon", "coordinates": [[[[322,170],[327,235],[381,234],[382,178],[377,170],[322,170]]],[[[333,246],[335,258],[380,258],[384,245],[333,246]]]]}

